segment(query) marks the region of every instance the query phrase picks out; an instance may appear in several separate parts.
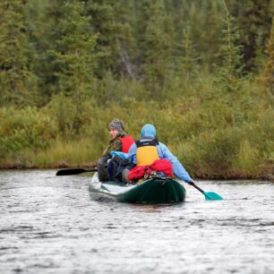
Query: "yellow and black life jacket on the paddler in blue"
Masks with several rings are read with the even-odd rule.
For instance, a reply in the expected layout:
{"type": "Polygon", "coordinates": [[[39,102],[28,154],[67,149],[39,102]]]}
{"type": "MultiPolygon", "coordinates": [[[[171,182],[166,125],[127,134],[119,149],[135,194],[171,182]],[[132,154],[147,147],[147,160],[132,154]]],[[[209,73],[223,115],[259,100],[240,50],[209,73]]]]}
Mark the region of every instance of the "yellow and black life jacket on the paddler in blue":
{"type": "Polygon", "coordinates": [[[136,141],[136,165],[150,166],[158,157],[156,139],[141,139],[136,141]]]}

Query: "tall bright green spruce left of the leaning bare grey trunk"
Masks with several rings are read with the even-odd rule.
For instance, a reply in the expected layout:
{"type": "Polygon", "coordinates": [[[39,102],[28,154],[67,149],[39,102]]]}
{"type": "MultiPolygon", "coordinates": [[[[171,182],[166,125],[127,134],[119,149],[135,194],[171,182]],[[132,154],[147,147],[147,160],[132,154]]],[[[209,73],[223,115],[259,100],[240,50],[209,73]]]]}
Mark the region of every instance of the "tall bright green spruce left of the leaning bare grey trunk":
{"type": "Polygon", "coordinates": [[[56,91],[73,98],[73,133],[78,134],[83,103],[95,94],[96,35],[90,29],[90,18],[84,15],[82,2],[59,0],[56,3],[60,4],[57,12],[62,13],[56,25],[56,46],[48,50],[47,55],[55,60],[56,91]]]}

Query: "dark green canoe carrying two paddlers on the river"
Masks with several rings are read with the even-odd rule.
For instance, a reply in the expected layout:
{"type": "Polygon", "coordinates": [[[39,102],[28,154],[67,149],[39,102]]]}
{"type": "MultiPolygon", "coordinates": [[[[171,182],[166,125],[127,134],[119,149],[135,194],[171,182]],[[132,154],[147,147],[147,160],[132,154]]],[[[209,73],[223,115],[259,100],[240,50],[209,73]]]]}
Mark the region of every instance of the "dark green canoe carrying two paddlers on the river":
{"type": "Polygon", "coordinates": [[[98,174],[92,176],[90,193],[97,198],[129,203],[174,203],[185,200],[185,188],[172,178],[151,178],[141,184],[99,182],[98,174]]]}

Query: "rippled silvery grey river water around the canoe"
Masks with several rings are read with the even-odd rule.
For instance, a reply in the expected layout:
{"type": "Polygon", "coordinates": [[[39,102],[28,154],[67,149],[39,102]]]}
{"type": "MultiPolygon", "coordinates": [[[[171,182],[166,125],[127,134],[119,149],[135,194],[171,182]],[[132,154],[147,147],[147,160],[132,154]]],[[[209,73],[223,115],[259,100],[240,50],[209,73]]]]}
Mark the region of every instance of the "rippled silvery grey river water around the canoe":
{"type": "Polygon", "coordinates": [[[274,184],[197,181],[184,203],[96,201],[90,174],[0,171],[0,273],[274,273],[274,184]]]}

